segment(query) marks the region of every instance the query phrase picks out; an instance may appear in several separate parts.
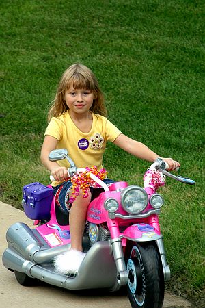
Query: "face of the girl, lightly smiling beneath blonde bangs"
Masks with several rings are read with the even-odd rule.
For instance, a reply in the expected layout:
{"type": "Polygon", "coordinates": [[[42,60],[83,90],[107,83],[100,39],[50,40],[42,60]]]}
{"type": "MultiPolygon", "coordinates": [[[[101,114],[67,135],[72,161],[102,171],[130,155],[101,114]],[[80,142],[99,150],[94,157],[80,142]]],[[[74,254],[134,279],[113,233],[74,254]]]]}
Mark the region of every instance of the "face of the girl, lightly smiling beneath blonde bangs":
{"type": "Polygon", "coordinates": [[[71,112],[84,114],[90,110],[94,100],[94,93],[91,90],[75,89],[70,86],[65,92],[65,101],[71,112]]]}

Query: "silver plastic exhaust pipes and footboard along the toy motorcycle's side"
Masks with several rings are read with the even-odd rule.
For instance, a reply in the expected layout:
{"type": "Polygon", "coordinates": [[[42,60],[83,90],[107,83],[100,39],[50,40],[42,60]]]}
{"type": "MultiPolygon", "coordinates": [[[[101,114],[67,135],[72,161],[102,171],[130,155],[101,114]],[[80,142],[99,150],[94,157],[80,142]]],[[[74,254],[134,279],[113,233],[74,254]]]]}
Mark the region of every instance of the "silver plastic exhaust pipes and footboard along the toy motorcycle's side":
{"type": "Polygon", "coordinates": [[[109,241],[96,242],[87,251],[77,276],[68,277],[57,274],[52,261],[57,254],[67,251],[69,245],[50,248],[35,229],[23,223],[13,224],[6,238],[8,248],[2,257],[5,268],[70,290],[112,288],[116,283],[117,270],[109,241]]]}

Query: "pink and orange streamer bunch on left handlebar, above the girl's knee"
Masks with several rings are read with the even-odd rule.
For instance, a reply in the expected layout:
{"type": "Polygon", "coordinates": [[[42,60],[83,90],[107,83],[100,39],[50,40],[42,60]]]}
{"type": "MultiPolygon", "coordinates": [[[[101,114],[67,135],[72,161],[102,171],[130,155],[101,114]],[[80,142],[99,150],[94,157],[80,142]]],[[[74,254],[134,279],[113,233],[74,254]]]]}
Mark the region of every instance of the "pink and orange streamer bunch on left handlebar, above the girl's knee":
{"type": "Polygon", "coordinates": [[[96,181],[91,179],[90,173],[93,173],[98,177],[98,179],[105,179],[107,177],[107,171],[105,169],[100,169],[98,171],[96,166],[91,168],[86,167],[86,171],[82,173],[77,173],[71,179],[72,182],[72,195],[70,196],[69,202],[73,203],[75,198],[79,196],[80,190],[83,190],[83,198],[87,198],[90,186],[97,188],[100,187],[96,181]]]}

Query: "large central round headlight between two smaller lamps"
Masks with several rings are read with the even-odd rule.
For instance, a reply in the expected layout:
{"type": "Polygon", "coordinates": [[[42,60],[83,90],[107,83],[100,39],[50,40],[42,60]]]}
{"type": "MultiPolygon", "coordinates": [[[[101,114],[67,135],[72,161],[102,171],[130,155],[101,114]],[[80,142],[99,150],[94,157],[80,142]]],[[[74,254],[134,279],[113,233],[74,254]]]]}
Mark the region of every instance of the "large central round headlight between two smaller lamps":
{"type": "Polygon", "coordinates": [[[121,203],[129,214],[139,214],[148,205],[148,194],[143,188],[131,185],[121,192],[121,203]]]}

